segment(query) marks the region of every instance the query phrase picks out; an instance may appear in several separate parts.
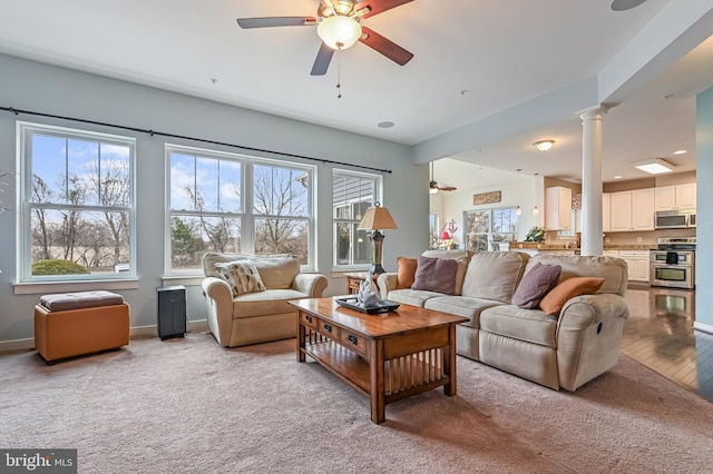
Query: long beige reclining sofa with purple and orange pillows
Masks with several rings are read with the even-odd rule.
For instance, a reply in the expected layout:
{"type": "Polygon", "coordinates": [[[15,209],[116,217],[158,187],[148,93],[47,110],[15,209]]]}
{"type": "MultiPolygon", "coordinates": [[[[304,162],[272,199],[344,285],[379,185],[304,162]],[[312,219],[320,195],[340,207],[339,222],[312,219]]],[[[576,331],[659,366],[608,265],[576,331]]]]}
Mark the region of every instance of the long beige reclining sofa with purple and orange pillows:
{"type": "MultiPolygon", "coordinates": [[[[453,255],[462,263],[460,253],[453,255]]],[[[547,387],[575,391],[616,365],[628,317],[624,260],[518,251],[468,253],[465,260],[460,295],[395,289],[398,274],[390,273],[379,277],[381,297],[469,318],[456,329],[458,354],[547,387]],[[596,294],[569,299],[558,317],[521,309],[510,302],[537,263],[560,265],[559,282],[582,276],[604,283],[596,294]]]]}

